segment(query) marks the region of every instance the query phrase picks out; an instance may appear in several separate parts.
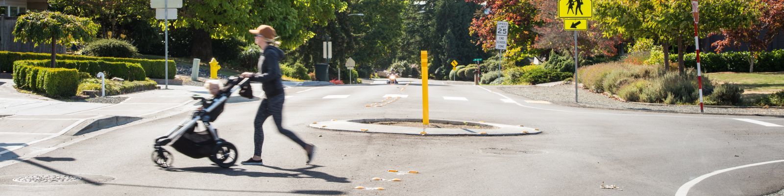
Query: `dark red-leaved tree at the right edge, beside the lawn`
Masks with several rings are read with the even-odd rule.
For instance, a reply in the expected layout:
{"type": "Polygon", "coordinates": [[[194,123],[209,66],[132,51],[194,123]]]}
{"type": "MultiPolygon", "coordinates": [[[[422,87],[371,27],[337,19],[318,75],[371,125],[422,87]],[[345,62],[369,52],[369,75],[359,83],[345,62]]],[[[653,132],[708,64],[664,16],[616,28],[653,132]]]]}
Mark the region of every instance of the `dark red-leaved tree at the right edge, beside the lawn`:
{"type": "Polygon", "coordinates": [[[762,12],[757,20],[753,20],[750,27],[724,28],[724,40],[714,42],[713,46],[717,51],[739,46],[742,42],[749,44],[749,72],[754,72],[754,61],[757,60],[760,52],[768,50],[774,38],[784,31],[784,1],[780,0],[760,0],[764,3],[762,12]]]}

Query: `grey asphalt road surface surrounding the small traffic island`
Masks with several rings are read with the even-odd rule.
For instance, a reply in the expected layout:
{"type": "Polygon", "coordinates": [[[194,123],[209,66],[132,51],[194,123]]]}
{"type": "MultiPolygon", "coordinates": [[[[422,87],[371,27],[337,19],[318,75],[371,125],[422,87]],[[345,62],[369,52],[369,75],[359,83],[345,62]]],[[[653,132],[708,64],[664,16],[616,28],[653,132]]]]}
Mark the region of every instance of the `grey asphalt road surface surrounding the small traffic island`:
{"type": "MultiPolygon", "coordinates": [[[[763,195],[784,188],[782,162],[703,176],[784,159],[784,127],[765,126],[784,125],[784,118],[564,107],[529,103],[492,86],[431,84],[431,118],[525,125],[543,133],[402,136],[311,129],[312,122],[331,119],[421,118],[421,86],[297,87],[286,90],[284,124],[318,147],[314,165],[305,165],[304,152],[269,120],[264,166],[221,169],[206,158],[175,152],[174,167],[160,169],[150,161],[153,139],[188,116],[180,114],[124,125],[2,167],[0,195],[674,195],[686,183],[691,186],[681,194],[763,195]],[[366,107],[387,94],[408,97],[366,107]],[[2,183],[2,176],[56,173],[114,180],[42,187],[2,183]],[[622,191],[601,188],[603,182],[622,191]]],[[[238,146],[241,160],[252,155],[258,104],[230,103],[214,124],[238,146]]]]}

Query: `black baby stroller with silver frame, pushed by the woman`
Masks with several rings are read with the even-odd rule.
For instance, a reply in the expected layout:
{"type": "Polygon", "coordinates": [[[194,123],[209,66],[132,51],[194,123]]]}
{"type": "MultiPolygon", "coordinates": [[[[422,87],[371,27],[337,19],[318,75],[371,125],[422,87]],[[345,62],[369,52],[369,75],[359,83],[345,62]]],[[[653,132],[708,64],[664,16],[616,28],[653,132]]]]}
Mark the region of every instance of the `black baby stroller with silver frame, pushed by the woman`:
{"type": "Polygon", "coordinates": [[[193,116],[180,122],[174,129],[165,136],[155,139],[152,153],[152,161],[156,165],[166,168],[172,166],[174,158],[169,151],[163,147],[171,144],[175,150],[191,158],[207,158],[218,166],[228,168],[237,162],[237,148],[234,144],[218,137],[218,130],[210,125],[218,115],[223,112],[223,105],[231,96],[231,93],[242,89],[241,94],[246,96],[250,91],[248,78],[231,78],[223,89],[220,89],[215,98],[208,99],[201,96],[192,96],[194,100],[201,100],[201,108],[194,111],[193,116]],[[204,125],[206,130],[197,131],[198,122],[204,125]]]}

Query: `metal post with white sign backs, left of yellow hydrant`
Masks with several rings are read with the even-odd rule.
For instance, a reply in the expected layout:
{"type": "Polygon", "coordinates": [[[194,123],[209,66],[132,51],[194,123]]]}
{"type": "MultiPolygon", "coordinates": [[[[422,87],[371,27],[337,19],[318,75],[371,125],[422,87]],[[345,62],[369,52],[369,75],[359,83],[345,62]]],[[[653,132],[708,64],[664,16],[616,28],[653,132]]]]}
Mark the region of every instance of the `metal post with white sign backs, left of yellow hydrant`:
{"type": "Polygon", "coordinates": [[[164,81],[169,89],[169,20],[177,19],[177,9],[183,7],[183,0],[150,0],[150,8],[155,9],[155,18],[164,20],[164,81]]]}

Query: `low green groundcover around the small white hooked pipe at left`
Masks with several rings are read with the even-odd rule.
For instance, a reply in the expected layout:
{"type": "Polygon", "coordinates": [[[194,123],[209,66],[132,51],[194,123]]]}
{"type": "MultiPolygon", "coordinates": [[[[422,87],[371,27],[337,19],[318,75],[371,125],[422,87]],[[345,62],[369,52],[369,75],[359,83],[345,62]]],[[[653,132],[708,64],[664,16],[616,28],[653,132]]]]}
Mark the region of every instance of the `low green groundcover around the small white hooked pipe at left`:
{"type": "MultiPolygon", "coordinates": [[[[75,92],[82,93],[82,91],[85,90],[100,91],[101,89],[100,84],[101,82],[100,79],[98,78],[84,79],[82,80],[82,82],[78,83],[78,89],[76,89],[75,92]]],[[[118,82],[118,81],[107,80],[105,90],[106,90],[106,96],[115,96],[115,95],[120,95],[125,93],[136,93],[145,90],[158,89],[157,85],[158,83],[150,79],[143,80],[143,81],[134,81],[134,82],[129,82],[129,81],[118,82]]]]}

